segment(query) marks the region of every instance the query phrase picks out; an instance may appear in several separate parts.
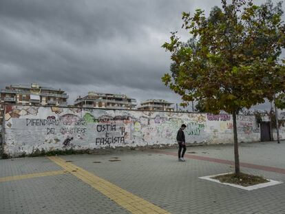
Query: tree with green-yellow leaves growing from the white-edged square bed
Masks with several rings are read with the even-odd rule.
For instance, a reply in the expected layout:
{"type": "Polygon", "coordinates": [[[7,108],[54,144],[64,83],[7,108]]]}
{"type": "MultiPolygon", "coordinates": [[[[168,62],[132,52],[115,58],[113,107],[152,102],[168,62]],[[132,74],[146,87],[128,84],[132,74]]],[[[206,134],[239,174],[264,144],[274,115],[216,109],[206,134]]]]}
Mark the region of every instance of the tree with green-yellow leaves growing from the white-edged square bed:
{"type": "Polygon", "coordinates": [[[213,114],[233,115],[237,176],[237,113],[285,91],[285,61],[279,59],[285,46],[281,8],[282,3],[273,6],[271,1],[257,6],[251,0],[222,0],[222,8],[212,8],[209,17],[201,9],[192,17],[182,12],[182,28],[195,45],[182,43],[178,32],[171,32],[170,42],[162,45],[175,67],[162,81],[182,97],[182,105],[198,100],[213,114]]]}

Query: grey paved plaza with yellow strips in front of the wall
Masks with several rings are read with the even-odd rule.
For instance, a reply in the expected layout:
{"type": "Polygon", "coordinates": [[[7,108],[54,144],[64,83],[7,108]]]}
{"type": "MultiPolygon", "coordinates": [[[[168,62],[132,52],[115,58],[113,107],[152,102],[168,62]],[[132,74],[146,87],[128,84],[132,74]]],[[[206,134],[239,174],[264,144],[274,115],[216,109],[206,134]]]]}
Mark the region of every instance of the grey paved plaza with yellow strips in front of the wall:
{"type": "MultiPolygon", "coordinates": [[[[234,171],[233,145],[0,160],[0,213],[285,213],[285,184],[253,191],[199,177],[234,171]]],[[[240,144],[244,173],[285,182],[285,142],[240,144]]]]}

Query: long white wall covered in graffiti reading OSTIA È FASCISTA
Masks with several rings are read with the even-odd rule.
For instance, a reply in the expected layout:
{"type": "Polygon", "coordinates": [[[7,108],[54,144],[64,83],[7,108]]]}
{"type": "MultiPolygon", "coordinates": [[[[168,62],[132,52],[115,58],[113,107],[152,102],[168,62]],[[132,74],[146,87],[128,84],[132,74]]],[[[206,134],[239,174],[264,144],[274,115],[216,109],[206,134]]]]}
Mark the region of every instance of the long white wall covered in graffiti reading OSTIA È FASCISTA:
{"type": "MultiPolygon", "coordinates": [[[[14,105],[6,106],[3,151],[19,156],[36,149],[174,145],[182,123],[189,143],[233,142],[232,116],[227,114],[14,105]]],[[[259,141],[255,117],[237,116],[237,134],[239,141],[259,141]]]]}

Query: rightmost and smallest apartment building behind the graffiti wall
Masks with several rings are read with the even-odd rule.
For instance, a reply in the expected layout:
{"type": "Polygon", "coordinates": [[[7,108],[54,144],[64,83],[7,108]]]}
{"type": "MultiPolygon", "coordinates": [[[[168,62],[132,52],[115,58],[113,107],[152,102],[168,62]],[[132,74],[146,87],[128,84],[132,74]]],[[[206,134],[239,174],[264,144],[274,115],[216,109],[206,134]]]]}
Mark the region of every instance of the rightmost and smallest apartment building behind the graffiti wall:
{"type": "Polygon", "coordinates": [[[145,100],[140,103],[138,110],[144,111],[174,111],[174,108],[171,107],[173,103],[169,103],[166,100],[160,99],[150,99],[145,100]]]}

